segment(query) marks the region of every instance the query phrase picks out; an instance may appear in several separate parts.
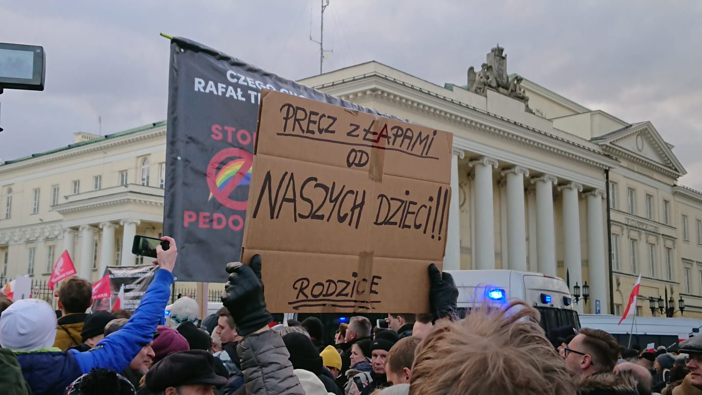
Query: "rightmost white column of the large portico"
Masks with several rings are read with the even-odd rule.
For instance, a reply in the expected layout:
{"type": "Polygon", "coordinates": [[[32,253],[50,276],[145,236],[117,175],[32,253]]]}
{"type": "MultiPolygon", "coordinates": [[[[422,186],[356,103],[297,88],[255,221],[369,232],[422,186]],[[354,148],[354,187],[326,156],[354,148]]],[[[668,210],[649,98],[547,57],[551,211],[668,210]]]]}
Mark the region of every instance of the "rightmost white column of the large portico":
{"type": "MultiPolygon", "coordinates": [[[[609,314],[607,302],[607,266],[604,253],[604,219],[602,216],[602,198],[604,191],[590,190],[588,197],[588,264],[590,269],[590,303],[600,300],[600,313],[609,314]]],[[[592,308],[594,311],[594,307],[592,308]]]]}

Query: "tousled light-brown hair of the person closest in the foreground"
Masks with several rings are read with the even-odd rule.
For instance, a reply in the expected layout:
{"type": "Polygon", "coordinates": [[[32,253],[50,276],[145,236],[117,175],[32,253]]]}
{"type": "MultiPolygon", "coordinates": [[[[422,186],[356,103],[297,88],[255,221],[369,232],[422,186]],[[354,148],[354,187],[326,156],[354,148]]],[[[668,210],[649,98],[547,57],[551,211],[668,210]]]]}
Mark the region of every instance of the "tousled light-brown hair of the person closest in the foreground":
{"type": "Polygon", "coordinates": [[[409,394],[575,394],[539,320],[536,309],[517,301],[438,323],[416,350],[409,394]]]}

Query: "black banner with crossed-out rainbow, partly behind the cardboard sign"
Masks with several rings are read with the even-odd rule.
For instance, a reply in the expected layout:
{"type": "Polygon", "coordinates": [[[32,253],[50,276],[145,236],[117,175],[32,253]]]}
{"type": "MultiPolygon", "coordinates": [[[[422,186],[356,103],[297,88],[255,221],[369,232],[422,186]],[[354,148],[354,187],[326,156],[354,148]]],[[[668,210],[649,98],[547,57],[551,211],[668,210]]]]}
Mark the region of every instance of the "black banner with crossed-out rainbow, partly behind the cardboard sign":
{"type": "Polygon", "coordinates": [[[164,235],[178,242],[179,281],[223,283],[241,256],[261,89],[377,114],[174,37],[164,235]]]}

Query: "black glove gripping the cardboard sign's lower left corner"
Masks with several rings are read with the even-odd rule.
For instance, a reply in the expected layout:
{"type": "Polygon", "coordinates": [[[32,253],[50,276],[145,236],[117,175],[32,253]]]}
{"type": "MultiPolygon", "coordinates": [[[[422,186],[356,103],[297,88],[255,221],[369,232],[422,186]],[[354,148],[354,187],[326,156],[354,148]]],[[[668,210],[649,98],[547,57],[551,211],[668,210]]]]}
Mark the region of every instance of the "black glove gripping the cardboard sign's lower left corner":
{"type": "Polygon", "coordinates": [[[265,309],[260,255],[251,257],[249,266],[241,262],[227,264],[227,273],[230,275],[222,303],[234,318],[237,333],[246,336],[268,325],[273,318],[265,309]]]}

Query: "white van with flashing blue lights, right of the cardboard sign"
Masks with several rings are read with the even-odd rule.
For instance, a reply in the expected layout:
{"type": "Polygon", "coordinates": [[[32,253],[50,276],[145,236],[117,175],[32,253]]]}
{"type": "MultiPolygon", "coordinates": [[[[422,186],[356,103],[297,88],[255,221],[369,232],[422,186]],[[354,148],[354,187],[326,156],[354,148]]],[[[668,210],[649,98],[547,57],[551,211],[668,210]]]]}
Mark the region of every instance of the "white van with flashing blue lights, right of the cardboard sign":
{"type": "Polygon", "coordinates": [[[569,289],[561,278],[515,270],[447,272],[451,273],[458,287],[458,312],[461,318],[473,306],[485,303],[507,306],[513,300],[521,299],[541,313],[541,327],[546,333],[565,325],[580,328],[569,289]]]}

